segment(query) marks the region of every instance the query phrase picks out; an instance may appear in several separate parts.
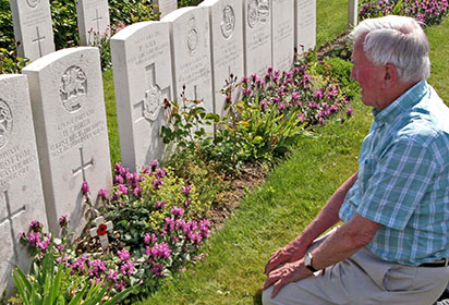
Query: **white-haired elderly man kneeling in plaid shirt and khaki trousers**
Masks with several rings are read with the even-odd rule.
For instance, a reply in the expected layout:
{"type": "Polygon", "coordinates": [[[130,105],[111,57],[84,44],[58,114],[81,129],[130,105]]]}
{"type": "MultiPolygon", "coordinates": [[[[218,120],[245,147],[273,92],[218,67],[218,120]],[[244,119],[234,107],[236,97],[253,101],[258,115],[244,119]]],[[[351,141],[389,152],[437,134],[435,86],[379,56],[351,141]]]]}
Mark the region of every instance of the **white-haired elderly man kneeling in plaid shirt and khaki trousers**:
{"type": "Polygon", "coordinates": [[[351,76],[375,117],[359,172],[271,255],[265,305],[425,305],[448,284],[449,109],[426,82],[426,35],[413,19],[386,16],[351,37],[351,76]]]}

